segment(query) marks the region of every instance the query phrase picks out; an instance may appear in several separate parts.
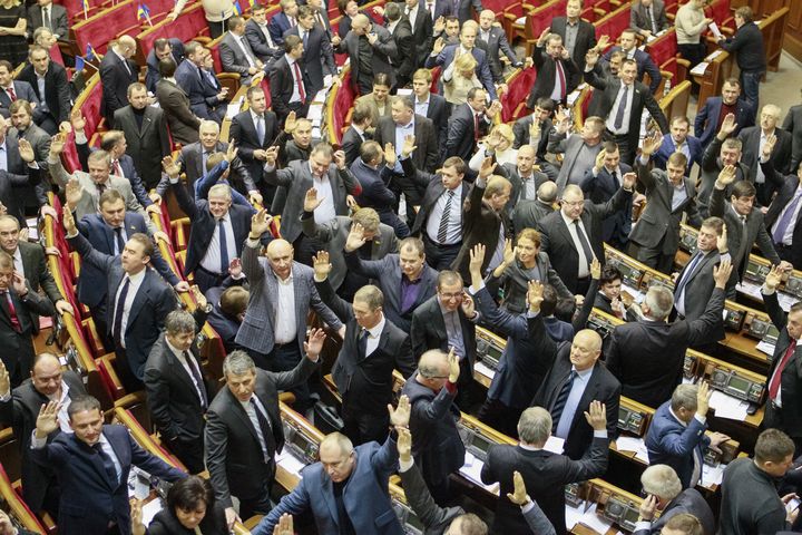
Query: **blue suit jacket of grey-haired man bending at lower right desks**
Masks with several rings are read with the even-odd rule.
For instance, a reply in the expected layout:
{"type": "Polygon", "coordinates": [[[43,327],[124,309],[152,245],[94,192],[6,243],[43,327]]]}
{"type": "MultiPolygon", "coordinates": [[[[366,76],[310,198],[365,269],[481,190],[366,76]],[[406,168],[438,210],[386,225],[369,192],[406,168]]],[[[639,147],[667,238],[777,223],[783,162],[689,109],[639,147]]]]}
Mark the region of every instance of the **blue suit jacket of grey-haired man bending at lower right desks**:
{"type": "Polygon", "coordinates": [[[697,455],[701,461],[704,459],[704,448],[710,445],[705,429],[707,424],[696,417],[688,424],[679,421],[671,411],[671,401],[661,405],[652,417],[645,437],[649,465],[671,466],[679,476],[683,488],[688,488],[693,476],[694,455],[697,455]]]}

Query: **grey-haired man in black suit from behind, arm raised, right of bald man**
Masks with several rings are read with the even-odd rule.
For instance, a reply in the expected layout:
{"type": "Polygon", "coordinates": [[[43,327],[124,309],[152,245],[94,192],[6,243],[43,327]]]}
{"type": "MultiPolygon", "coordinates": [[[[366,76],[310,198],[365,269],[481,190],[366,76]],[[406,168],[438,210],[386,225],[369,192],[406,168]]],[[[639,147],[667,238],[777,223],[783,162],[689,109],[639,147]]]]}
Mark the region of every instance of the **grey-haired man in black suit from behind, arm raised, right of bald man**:
{"type": "Polygon", "coordinates": [[[696,320],[668,323],[674,295],[665,286],[652,286],[640,304],[643,319],[615,328],[607,368],[620,381],[624,396],[647,407],[659,407],[671,398],[682,380],[687,348],[707,341],[722,322],[724,289],[731,273],[727,260],[713,268],[715,290],[696,320]]]}

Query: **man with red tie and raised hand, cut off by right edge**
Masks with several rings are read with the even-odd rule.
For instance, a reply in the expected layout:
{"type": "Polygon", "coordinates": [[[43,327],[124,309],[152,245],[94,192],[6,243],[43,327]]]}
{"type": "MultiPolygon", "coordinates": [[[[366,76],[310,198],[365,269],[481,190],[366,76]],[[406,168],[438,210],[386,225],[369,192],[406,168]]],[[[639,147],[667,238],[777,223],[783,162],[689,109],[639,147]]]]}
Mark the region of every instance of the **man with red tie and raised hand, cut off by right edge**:
{"type": "Polygon", "coordinates": [[[780,307],[776,289],[782,273],[779,268],[772,268],[761,288],[769,318],[780,331],[766,374],[769,396],[763,427],[775,427],[789,434],[799,451],[802,449],[802,382],[796,368],[802,360],[802,303],[792,304],[789,312],[780,307]]]}

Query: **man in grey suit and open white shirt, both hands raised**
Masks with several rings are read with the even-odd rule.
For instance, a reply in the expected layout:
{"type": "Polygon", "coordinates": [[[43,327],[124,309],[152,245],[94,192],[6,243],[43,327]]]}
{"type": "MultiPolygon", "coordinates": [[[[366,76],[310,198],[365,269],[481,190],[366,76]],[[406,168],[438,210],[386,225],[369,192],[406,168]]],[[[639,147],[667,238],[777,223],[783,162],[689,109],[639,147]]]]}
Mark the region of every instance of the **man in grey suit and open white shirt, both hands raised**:
{"type": "Polygon", "coordinates": [[[332,221],[338,215],[348,215],[348,195],[359,195],[359,182],[345,167],[345,153],[334,152],[331,145],[315,145],[309,160],[293,160],[276,169],[278,148],[267,149],[264,181],[287,191],[282,211],[282,236],[295,246],[299,262],[311,265],[312,255],[324,249],[317,241],[301,232],[301,214],[310,187],[317,189],[321,204],[314,212],[315,223],[332,221]],[[332,162],[332,159],[334,162],[332,162]]]}

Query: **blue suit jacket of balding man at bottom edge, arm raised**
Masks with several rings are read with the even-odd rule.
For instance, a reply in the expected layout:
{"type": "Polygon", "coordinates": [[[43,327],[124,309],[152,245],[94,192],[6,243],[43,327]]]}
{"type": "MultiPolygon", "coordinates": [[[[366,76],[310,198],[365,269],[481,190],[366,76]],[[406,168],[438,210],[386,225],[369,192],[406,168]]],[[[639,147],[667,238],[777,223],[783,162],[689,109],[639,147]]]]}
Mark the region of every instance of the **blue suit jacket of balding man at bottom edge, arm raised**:
{"type": "MultiPolygon", "coordinates": [[[[354,533],[360,535],[403,535],[388,490],[388,478],[395,471],[398,449],[388,438],[383,445],[368,442],[354,448],[353,471],[343,486],[342,502],[354,533]]],[[[285,513],[299,515],[311,512],[317,533],[340,532],[338,506],[331,477],[321,463],[301,470],[301,483],[282,498],[265,516],[253,535],[270,535],[285,513]]]]}

